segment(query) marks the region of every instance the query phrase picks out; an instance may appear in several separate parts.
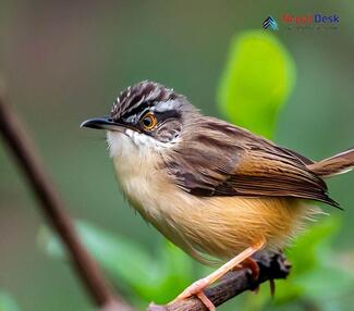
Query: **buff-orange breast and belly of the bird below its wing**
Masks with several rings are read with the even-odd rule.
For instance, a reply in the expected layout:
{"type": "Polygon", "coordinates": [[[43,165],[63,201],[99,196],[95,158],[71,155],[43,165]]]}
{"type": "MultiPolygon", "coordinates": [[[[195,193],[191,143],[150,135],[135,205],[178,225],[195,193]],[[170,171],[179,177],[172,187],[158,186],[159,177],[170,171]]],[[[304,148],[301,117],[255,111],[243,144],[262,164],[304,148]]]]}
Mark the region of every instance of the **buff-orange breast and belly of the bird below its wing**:
{"type": "Polygon", "coordinates": [[[199,261],[204,254],[228,260],[260,240],[282,248],[305,217],[319,212],[289,198],[196,197],[156,176],[120,184],[146,221],[199,261]]]}

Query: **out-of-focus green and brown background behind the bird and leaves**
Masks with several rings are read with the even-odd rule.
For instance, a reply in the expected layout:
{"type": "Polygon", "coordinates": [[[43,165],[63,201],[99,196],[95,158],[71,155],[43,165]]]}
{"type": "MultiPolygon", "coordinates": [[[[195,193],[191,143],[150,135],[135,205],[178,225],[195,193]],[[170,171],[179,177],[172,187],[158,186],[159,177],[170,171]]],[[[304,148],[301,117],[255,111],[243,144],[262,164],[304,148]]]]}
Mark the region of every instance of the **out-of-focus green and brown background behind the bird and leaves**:
{"type": "MultiPolygon", "coordinates": [[[[272,15],[280,27],[273,37],[288,50],[296,67],[293,91],[289,99],[283,98],[286,102],[274,121],[272,138],[312,159],[332,156],[354,145],[353,13],[354,3],[350,1],[0,1],[0,79],[5,82],[12,107],[33,136],[70,214],[134,240],[134,249],[147,250],[152,261],[167,254],[180,258],[183,272],[191,262],[166,246],[118,191],[103,134],[83,130],[80,123],[107,114],[119,91],[147,78],[186,95],[206,114],[225,119],[228,110],[218,108],[217,102],[222,101],[219,86],[225,78],[230,45],[245,30],[261,32],[263,21],[272,15]],[[285,12],[335,13],[340,24],[337,29],[289,30],[281,22],[285,12]]],[[[263,79],[271,78],[264,72],[253,74],[255,89],[263,79]]],[[[232,120],[232,115],[228,117],[232,120]]],[[[249,123],[252,117],[249,114],[249,123]]],[[[353,185],[353,173],[329,181],[332,197],[345,211],[325,207],[326,212],[335,215],[334,224],[325,223],[315,234],[319,238],[328,233],[332,236],[326,252],[335,264],[347,268],[346,274],[352,276],[353,185]],[[332,227],[337,227],[335,235],[332,227]]],[[[0,144],[0,291],[10,293],[22,310],[88,310],[89,300],[68,264],[53,260],[38,247],[45,234],[38,238],[42,219],[35,204],[0,144]]],[[[300,245],[303,252],[297,251],[298,265],[312,244],[300,245]]],[[[130,244],[122,248],[125,258],[129,249],[130,244]]],[[[304,277],[302,284],[312,282],[315,275],[316,282],[310,284],[318,287],[314,285],[309,290],[325,296],[320,287],[324,271],[329,270],[304,277]]],[[[194,278],[185,277],[182,283],[194,278]]],[[[314,304],[297,293],[294,299],[286,298],[291,303],[276,307],[268,302],[264,308],[352,310],[353,282],[337,278],[330,275],[324,279],[330,281],[327,283],[333,291],[339,285],[346,286],[345,297],[337,296],[337,300],[344,301],[340,307],[327,294],[322,304],[314,304]]],[[[288,283],[289,288],[290,284],[294,282],[288,283]]],[[[286,291],[286,284],[282,285],[280,295],[286,291]]],[[[123,290],[131,295],[130,289],[123,290]]],[[[148,299],[142,297],[142,290],[135,290],[139,297],[132,296],[139,306],[148,299]]],[[[236,300],[258,300],[264,306],[260,300],[265,295],[257,299],[249,295],[236,300]]],[[[229,310],[240,303],[236,300],[228,303],[229,310]]],[[[257,308],[251,308],[249,301],[245,303],[248,309],[243,310],[257,308]]]]}

